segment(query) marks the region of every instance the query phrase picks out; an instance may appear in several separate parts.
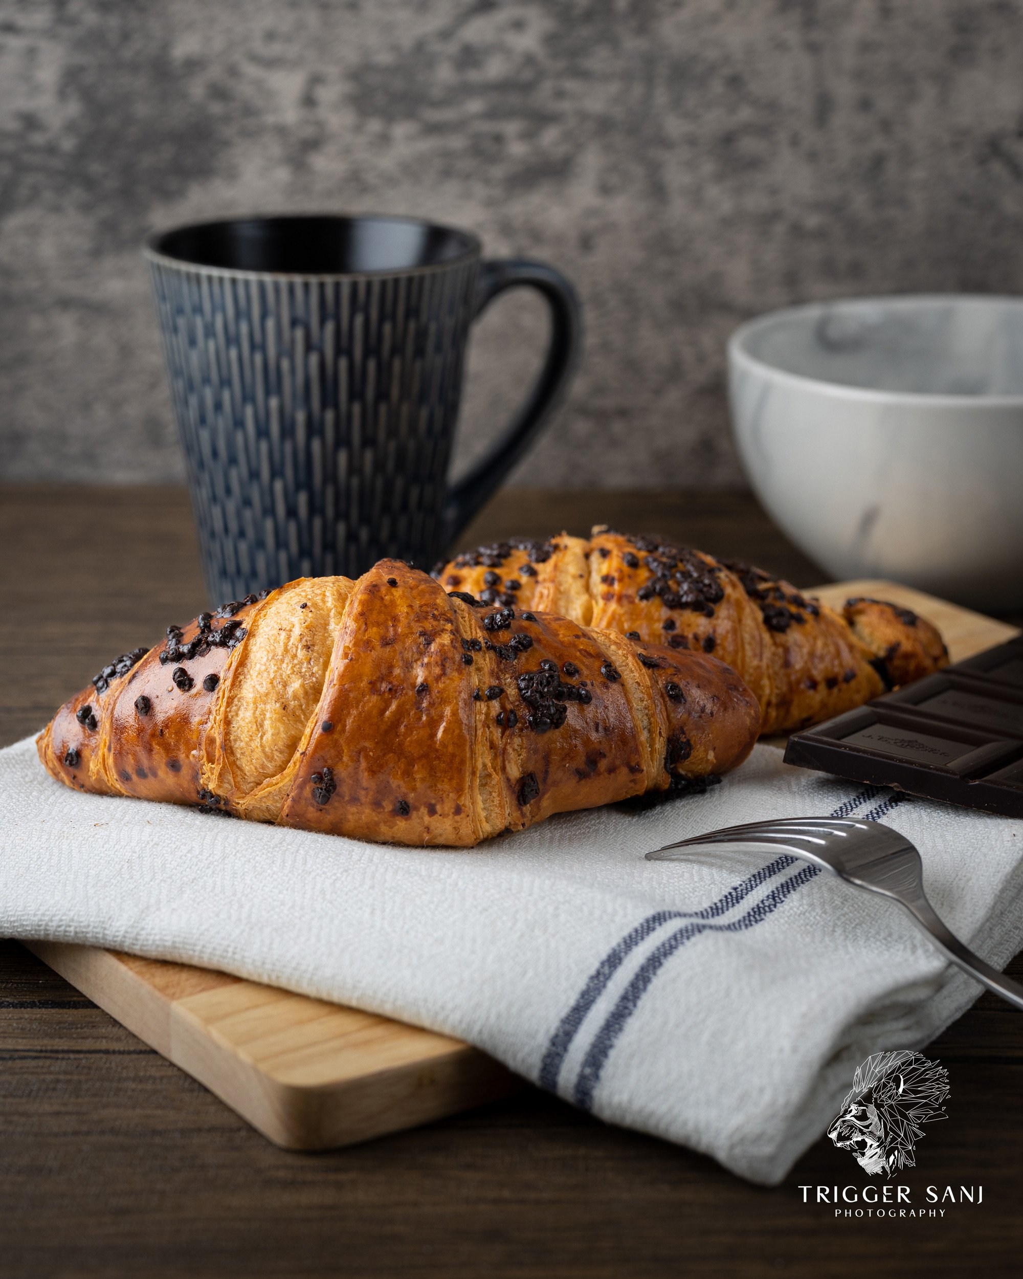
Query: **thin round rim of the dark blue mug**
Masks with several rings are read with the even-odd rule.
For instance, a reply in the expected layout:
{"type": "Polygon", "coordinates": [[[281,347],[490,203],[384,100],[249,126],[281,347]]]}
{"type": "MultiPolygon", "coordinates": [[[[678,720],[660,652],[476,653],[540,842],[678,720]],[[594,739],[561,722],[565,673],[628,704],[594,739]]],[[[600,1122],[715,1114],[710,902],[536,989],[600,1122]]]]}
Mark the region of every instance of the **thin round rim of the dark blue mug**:
{"type": "Polygon", "coordinates": [[[170,226],[166,230],[151,231],[142,244],[142,256],[159,266],[170,267],[175,271],[194,271],[201,275],[217,275],[242,280],[362,280],[362,279],[387,279],[407,275],[430,275],[436,271],[449,271],[457,266],[478,258],[483,252],[483,246],[478,235],[473,231],[463,230],[460,226],[451,226],[448,223],[435,223],[426,217],[413,217],[408,214],[338,214],[338,212],[279,212],[279,214],[248,214],[235,217],[210,217],[201,223],[183,223],[170,226]],[[368,271],[254,271],[234,266],[207,266],[203,262],[189,262],[188,258],[173,257],[160,249],[160,243],[170,235],[180,231],[202,230],[210,226],[229,226],[239,223],[272,223],[280,219],[321,220],[329,219],[339,223],[405,223],[413,226],[425,226],[430,230],[446,231],[459,235],[467,242],[464,252],[455,257],[449,257],[442,262],[423,262],[419,266],[380,267],[368,271]]]}

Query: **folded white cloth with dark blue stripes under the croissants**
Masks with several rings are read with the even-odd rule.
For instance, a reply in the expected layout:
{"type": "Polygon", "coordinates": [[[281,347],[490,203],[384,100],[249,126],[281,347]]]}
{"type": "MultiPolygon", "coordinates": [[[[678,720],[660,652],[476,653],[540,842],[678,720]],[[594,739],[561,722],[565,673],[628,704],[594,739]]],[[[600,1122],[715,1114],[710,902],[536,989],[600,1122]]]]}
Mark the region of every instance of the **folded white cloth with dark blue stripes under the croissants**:
{"type": "Polygon", "coordinates": [[[613,1123],[779,1182],[871,1053],[980,987],[894,903],[806,862],[643,854],[765,817],[881,819],[999,967],[1023,945],[1023,822],[793,769],[758,746],[706,794],[410,849],[68,790],[0,751],[0,935],[223,968],[458,1036],[613,1123]]]}

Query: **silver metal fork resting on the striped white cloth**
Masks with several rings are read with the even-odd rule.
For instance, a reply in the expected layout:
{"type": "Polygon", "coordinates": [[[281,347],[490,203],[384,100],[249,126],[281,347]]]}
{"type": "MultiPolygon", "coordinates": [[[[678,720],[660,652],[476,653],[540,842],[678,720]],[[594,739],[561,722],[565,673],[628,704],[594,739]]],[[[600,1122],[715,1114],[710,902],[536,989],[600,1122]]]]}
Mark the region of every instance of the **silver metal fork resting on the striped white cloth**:
{"type": "Polygon", "coordinates": [[[909,912],[913,922],[963,972],[1023,1009],[1023,986],[974,955],[937,917],[923,891],[919,853],[904,835],[890,826],[852,817],[751,821],[744,826],[725,826],[693,839],[665,844],[664,848],[647,853],[647,861],[682,861],[685,854],[678,849],[697,848],[701,844],[751,844],[771,852],[784,849],[821,870],[831,871],[847,884],[891,898],[909,912]]]}

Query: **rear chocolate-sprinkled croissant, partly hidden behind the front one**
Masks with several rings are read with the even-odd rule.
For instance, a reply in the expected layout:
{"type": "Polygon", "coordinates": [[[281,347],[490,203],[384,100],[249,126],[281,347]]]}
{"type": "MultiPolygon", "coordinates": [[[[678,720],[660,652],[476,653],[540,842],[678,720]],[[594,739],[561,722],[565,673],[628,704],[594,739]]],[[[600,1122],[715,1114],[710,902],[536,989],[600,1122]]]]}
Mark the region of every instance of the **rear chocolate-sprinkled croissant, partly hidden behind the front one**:
{"type": "Polygon", "coordinates": [[[935,627],[881,600],[839,615],[788,582],[738,561],[605,526],[467,551],[433,569],[485,604],[550,609],[644,643],[712,652],[761,706],[761,733],[784,733],[862,706],[946,665],[935,627]]]}

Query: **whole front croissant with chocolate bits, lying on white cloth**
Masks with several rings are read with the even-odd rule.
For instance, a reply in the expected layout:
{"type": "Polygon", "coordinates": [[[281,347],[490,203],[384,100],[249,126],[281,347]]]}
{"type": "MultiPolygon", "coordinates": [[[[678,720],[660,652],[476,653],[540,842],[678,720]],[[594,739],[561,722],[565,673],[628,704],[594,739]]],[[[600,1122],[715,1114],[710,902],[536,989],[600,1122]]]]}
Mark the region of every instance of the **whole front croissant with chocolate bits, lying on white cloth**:
{"type": "Polygon", "coordinates": [[[449,595],[381,560],[170,627],[38,739],[65,785],[468,847],[740,764],[760,711],[703,652],[449,595]]]}

